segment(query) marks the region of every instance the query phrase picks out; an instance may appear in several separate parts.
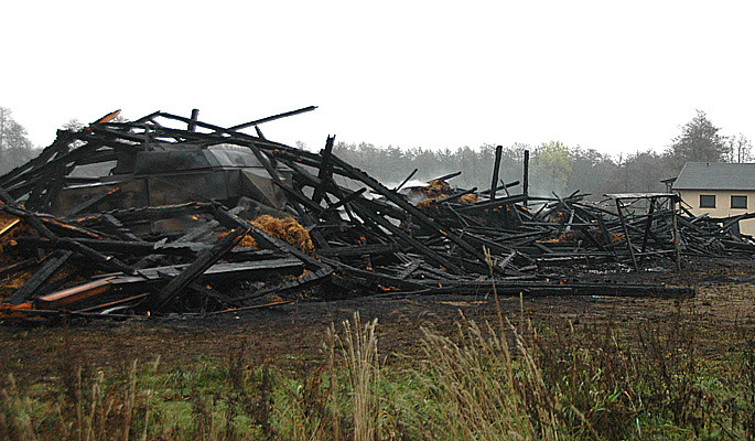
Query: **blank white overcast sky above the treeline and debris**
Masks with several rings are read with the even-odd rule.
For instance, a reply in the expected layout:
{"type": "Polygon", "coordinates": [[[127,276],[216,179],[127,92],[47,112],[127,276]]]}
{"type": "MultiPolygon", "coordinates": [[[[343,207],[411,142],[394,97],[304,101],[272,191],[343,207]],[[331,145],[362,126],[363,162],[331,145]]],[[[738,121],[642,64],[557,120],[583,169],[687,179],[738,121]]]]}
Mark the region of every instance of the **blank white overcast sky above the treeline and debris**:
{"type": "Polygon", "coordinates": [[[704,110],[755,138],[752,1],[12,1],[0,106],[35,144],[154,110],[310,149],[560,140],[661,151],[704,110]]]}

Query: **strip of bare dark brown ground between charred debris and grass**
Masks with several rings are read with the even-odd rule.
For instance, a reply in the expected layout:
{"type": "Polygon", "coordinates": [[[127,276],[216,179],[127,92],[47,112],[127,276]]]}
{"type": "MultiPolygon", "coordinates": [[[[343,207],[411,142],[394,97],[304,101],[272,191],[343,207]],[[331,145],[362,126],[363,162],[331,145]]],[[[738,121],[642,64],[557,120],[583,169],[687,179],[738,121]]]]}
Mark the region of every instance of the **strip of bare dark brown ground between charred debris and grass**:
{"type": "MultiPolygon", "coordinates": [[[[514,324],[529,320],[557,333],[570,329],[584,335],[614,326],[633,341],[634,330],[645,326],[698,334],[705,356],[723,356],[730,342],[755,335],[755,261],[701,260],[687,262],[681,275],[668,271],[601,275],[617,282],[665,282],[691,286],[691,299],[611,297],[501,297],[500,309],[514,324]],[[681,324],[694,326],[681,327],[681,324]],[[682,331],[683,330],[683,331],[682,331]]],[[[476,321],[496,321],[494,297],[442,295],[347,300],[301,299],[292,304],[212,318],[175,316],[128,321],[89,321],[56,325],[0,325],[0,373],[13,373],[31,383],[54,376],[62,363],[97,368],[119,368],[136,359],[172,367],[192,366],[203,359],[227,359],[244,347],[249,364],[270,363],[290,372],[319,365],[331,323],[377,318],[379,351],[387,363],[396,354],[419,351],[422,326],[451,332],[463,313],[476,321]]],[[[4,375],[3,375],[4,377],[4,375]]]]}

